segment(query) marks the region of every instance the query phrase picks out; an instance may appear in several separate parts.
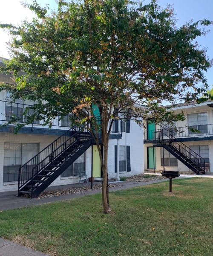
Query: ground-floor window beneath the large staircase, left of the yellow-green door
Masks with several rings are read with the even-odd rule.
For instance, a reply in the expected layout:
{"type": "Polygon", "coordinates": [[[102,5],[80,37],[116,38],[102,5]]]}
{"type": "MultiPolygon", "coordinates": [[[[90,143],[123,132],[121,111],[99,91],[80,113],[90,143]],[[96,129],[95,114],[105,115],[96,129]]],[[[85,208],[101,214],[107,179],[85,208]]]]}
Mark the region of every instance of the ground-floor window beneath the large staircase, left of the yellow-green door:
{"type": "Polygon", "coordinates": [[[85,153],[83,153],[74,163],[72,163],[61,175],[60,177],[72,177],[78,176],[78,170],[80,172],[85,172],[85,153]]]}

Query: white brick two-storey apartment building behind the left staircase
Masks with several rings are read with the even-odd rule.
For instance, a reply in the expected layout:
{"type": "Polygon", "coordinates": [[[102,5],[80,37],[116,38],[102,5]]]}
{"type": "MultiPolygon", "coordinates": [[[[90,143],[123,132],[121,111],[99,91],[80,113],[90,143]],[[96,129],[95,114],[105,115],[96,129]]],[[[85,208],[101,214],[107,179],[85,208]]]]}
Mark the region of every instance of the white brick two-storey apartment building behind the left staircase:
{"type": "MultiPolygon", "coordinates": [[[[14,84],[4,74],[0,74],[0,81],[14,84]]],[[[69,115],[62,119],[56,116],[52,128],[35,120],[14,134],[14,125],[7,122],[13,118],[24,124],[23,111],[29,105],[32,102],[23,99],[13,102],[6,90],[0,92],[0,192],[17,190],[18,185],[22,191],[31,191],[36,186],[42,190],[45,186],[78,183],[82,173],[100,178],[98,148],[86,130],[72,127],[69,115]]],[[[109,140],[109,178],[144,173],[143,155],[143,132],[139,125],[124,118],[115,122],[109,140]]]]}

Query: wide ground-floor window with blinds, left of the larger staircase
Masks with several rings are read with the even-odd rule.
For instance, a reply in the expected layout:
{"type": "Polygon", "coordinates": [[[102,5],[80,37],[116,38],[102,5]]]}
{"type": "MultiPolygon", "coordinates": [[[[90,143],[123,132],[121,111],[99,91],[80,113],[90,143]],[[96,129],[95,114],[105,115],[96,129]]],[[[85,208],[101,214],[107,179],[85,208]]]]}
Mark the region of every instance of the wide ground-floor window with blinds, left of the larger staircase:
{"type": "Polygon", "coordinates": [[[38,153],[35,143],[5,143],[3,182],[17,181],[18,169],[38,153]]]}

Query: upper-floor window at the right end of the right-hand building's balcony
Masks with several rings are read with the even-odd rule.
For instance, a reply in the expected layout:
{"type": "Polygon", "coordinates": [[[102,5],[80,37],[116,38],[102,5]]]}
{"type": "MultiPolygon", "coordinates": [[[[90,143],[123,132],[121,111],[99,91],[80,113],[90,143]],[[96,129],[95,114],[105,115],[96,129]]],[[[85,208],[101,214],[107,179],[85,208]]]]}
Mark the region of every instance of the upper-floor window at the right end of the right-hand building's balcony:
{"type": "MultiPolygon", "coordinates": [[[[203,113],[194,113],[194,114],[188,114],[188,126],[190,128],[196,129],[201,134],[207,134],[208,133],[208,127],[207,127],[207,112],[203,113]]],[[[196,131],[188,130],[189,134],[197,134],[196,131]]]]}

